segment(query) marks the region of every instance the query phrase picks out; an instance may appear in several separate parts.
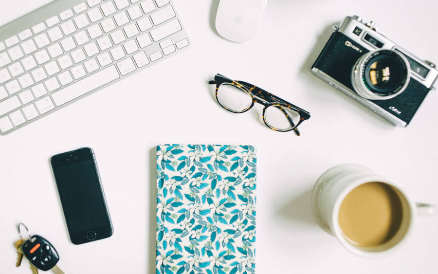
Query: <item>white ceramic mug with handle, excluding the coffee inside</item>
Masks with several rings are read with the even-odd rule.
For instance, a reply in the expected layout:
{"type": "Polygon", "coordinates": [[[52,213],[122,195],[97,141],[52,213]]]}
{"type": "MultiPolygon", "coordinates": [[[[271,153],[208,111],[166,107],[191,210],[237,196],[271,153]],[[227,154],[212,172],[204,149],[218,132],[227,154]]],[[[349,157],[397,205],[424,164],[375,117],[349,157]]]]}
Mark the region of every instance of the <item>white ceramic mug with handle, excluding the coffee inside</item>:
{"type": "Polygon", "coordinates": [[[430,215],[436,206],[412,202],[394,180],[378,176],[371,169],[359,164],[340,164],[326,171],[315,183],[312,193],[312,208],[316,222],[324,231],[337,237],[341,244],[354,254],[365,257],[379,257],[393,252],[411,233],[417,215],[430,215]],[[394,237],[375,247],[359,247],[351,244],[341,231],[338,213],[347,194],[357,186],[381,182],[390,185],[402,201],[402,223],[394,237]]]}

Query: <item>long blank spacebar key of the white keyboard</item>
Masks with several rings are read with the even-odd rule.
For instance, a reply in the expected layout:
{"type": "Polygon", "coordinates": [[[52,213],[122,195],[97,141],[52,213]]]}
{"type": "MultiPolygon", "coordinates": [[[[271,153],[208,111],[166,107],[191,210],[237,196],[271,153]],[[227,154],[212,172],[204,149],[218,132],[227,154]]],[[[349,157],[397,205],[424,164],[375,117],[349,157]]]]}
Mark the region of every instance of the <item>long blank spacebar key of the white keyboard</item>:
{"type": "Polygon", "coordinates": [[[98,73],[94,73],[91,76],[80,80],[79,82],[76,82],[65,89],[56,91],[52,94],[52,99],[55,102],[55,105],[59,107],[81,95],[84,95],[85,93],[100,88],[119,77],[120,75],[115,66],[112,65],[109,68],[106,68],[98,73]]]}

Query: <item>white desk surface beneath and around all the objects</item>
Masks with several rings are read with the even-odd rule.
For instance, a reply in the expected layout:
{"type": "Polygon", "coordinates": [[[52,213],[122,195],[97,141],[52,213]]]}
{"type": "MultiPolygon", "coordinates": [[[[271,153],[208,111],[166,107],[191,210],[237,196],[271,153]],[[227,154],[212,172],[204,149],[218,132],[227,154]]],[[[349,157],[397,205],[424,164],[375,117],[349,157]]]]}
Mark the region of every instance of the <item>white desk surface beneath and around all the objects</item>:
{"type": "MultiPolygon", "coordinates": [[[[48,0],[2,1],[0,23],[48,0]]],[[[270,0],[256,37],[219,37],[219,0],[174,0],[192,41],[182,54],[99,91],[10,135],[0,136],[1,273],[15,268],[15,224],[55,244],[67,273],[155,273],[155,146],[251,144],[258,150],[259,274],[437,273],[438,216],[418,218],[400,251],[381,259],[350,254],[312,216],[313,183],[329,167],[354,162],[400,181],[415,201],[438,203],[438,91],[408,128],[395,128],[309,72],[347,15],[375,20],[413,54],[438,63],[435,0],[270,0]],[[221,109],[207,81],[216,73],[245,80],[311,113],[302,135],[266,128],[261,108],[221,109]],[[73,245],[49,158],[91,146],[97,157],[114,234],[73,245]]]]}

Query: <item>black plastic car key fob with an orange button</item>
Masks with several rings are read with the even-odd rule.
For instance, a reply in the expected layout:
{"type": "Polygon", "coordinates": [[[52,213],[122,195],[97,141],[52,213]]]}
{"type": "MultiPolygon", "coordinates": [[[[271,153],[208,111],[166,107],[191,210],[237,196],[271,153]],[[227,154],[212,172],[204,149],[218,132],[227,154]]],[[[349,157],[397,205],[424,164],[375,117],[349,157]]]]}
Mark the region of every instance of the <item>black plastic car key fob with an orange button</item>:
{"type": "Polygon", "coordinates": [[[31,264],[43,271],[51,270],[59,261],[55,247],[38,235],[33,235],[31,240],[26,240],[21,249],[31,264]]]}

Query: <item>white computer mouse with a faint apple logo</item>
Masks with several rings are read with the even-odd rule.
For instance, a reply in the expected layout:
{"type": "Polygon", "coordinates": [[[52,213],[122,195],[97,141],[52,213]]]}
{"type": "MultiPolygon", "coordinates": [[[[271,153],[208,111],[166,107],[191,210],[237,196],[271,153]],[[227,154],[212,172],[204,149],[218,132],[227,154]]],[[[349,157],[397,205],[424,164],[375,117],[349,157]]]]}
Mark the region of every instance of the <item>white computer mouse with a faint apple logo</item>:
{"type": "Polygon", "coordinates": [[[256,34],[268,0],[220,0],[216,30],[221,37],[243,43],[256,34]]]}

